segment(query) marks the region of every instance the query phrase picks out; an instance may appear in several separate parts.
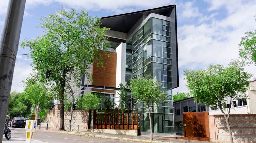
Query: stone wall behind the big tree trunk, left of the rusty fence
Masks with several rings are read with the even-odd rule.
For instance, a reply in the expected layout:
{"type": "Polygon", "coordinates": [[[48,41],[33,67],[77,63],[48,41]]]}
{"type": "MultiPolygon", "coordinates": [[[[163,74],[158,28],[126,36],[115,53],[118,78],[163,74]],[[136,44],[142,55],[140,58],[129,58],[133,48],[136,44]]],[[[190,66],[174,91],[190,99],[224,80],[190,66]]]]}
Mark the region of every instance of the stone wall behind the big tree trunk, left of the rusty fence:
{"type": "MultiPolygon", "coordinates": [[[[65,129],[69,127],[71,112],[64,111],[64,127],[65,129]],[[66,125],[66,126],[65,126],[66,125]]],[[[79,126],[79,131],[88,131],[89,122],[89,110],[73,110],[72,125],[74,127],[79,126]]],[[[47,122],[51,124],[54,128],[59,128],[60,124],[60,110],[59,105],[56,104],[55,108],[47,113],[47,122]]],[[[72,128],[73,129],[73,128],[72,128]]],[[[77,128],[76,128],[77,129],[77,128]]]]}

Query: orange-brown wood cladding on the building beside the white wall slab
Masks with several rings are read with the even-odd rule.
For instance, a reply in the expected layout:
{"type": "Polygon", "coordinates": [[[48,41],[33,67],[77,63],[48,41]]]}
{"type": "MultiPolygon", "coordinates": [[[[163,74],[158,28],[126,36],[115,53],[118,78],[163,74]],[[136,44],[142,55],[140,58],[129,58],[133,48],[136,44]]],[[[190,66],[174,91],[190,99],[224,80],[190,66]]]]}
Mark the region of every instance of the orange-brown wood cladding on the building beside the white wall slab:
{"type": "MultiPolygon", "coordinates": [[[[102,59],[104,60],[104,62],[103,62],[104,65],[97,67],[97,63],[93,64],[92,85],[116,87],[116,57],[117,57],[117,53],[109,52],[110,57],[107,57],[104,54],[104,51],[99,51],[99,52],[100,52],[100,54],[103,55],[102,59]]],[[[115,91],[112,91],[112,90],[92,89],[92,91],[115,93],[115,91]]]]}

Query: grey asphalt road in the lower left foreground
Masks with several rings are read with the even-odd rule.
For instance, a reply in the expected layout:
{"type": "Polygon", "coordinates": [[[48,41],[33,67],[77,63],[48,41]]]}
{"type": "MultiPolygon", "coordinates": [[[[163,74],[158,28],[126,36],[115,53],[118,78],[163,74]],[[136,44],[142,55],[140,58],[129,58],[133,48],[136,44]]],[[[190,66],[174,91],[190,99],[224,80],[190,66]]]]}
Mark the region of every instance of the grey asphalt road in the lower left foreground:
{"type": "MultiPolygon", "coordinates": [[[[10,127],[12,138],[5,139],[3,136],[3,143],[22,143],[25,142],[25,129],[10,127]]],[[[76,135],[66,135],[47,131],[36,131],[33,135],[32,143],[131,143],[119,140],[101,139],[80,137],[76,135]]]]}

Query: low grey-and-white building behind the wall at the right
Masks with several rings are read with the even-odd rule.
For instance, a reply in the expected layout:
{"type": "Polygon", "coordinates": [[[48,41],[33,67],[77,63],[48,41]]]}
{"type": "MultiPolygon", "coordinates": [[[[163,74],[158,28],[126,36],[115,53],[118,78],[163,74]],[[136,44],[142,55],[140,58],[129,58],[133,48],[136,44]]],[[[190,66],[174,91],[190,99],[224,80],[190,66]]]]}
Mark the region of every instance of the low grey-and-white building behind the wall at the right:
{"type": "MultiPolygon", "coordinates": [[[[248,98],[235,99],[230,108],[230,114],[256,114],[256,80],[249,81],[250,86],[247,90],[248,98]]],[[[227,99],[229,100],[229,99],[227,99]]],[[[229,100],[230,101],[230,100],[229,100]]],[[[229,105],[223,106],[224,112],[227,114],[229,105]]],[[[209,115],[222,115],[218,107],[209,107],[198,104],[194,97],[174,102],[174,126],[175,133],[182,132],[179,124],[183,121],[183,112],[204,112],[209,111],[209,115]]]]}

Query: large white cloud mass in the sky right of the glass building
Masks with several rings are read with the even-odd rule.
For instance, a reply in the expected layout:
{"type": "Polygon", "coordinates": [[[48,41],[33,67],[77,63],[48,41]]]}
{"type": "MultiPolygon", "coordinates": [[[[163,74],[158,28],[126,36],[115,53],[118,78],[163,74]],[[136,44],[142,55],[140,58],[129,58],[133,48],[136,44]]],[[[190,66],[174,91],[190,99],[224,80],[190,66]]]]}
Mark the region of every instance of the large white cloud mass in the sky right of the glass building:
{"type": "MultiPolygon", "coordinates": [[[[231,59],[239,58],[238,44],[244,33],[256,29],[253,17],[256,13],[256,1],[254,3],[210,1],[210,3],[212,4],[210,10],[227,9],[228,15],[221,20],[199,18],[202,20],[201,24],[189,23],[178,27],[180,73],[183,73],[183,69],[201,69],[209,64],[226,66],[231,59]],[[205,23],[205,20],[209,22],[205,23]]],[[[246,66],[245,71],[256,76],[254,65],[246,66]]],[[[174,93],[187,90],[183,78],[184,75],[180,75],[180,87],[174,89],[174,93]]]]}

